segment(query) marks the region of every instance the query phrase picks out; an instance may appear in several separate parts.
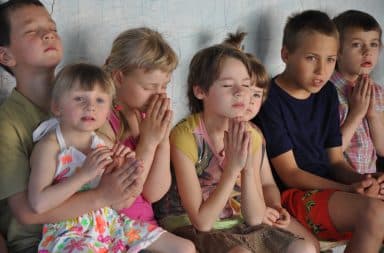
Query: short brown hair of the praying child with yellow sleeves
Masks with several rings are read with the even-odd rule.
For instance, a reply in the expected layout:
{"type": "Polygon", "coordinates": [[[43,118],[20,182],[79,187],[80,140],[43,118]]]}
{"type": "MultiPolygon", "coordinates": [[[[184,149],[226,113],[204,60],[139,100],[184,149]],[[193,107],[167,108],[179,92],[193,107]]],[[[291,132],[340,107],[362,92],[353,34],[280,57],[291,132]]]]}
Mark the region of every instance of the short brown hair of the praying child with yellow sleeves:
{"type": "Polygon", "coordinates": [[[204,110],[203,102],[195,97],[193,87],[198,86],[208,92],[213,82],[220,75],[221,66],[226,58],[235,58],[241,61],[251,76],[248,57],[236,48],[225,45],[214,45],[198,51],[192,58],[188,73],[188,100],[192,113],[204,110]]]}

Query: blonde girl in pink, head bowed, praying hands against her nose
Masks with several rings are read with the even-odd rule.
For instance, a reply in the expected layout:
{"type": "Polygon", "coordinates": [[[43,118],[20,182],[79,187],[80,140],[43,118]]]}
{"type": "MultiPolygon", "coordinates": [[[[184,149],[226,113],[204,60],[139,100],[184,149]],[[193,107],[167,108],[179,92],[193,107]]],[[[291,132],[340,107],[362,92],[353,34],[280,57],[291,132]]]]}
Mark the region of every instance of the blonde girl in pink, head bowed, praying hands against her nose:
{"type": "MultiPolygon", "coordinates": [[[[161,34],[149,28],[121,33],[113,42],[105,70],[116,87],[114,108],[109,116],[108,135],[135,151],[143,161],[144,183],[139,197],[120,212],[144,222],[157,224],[152,203],[167,192],[171,182],[169,130],[172,121],[170,101],[165,91],[177,56],[161,34]]],[[[195,251],[189,241],[166,233],[166,245],[179,245],[182,252],[195,251]],[[183,249],[184,248],[184,249],[183,249]]],[[[167,248],[167,252],[170,248],[167,248]]]]}

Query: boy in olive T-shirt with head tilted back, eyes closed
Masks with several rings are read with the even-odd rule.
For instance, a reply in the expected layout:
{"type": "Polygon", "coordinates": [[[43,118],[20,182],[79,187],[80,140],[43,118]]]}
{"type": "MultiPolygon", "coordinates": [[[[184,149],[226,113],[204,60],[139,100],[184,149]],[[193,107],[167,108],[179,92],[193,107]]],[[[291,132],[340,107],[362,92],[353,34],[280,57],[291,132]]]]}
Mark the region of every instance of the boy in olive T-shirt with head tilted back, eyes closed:
{"type": "MultiPolygon", "coordinates": [[[[10,252],[37,251],[41,226],[25,224],[68,219],[129,197],[124,192],[131,186],[113,172],[98,189],[76,194],[52,211],[37,215],[28,205],[32,132],[49,116],[50,83],[61,57],[55,22],[41,2],[10,0],[0,5],[0,64],[16,78],[16,88],[0,107],[0,233],[10,252]]],[[[131,184],[138,172],[124,171],[131,184]]]]}

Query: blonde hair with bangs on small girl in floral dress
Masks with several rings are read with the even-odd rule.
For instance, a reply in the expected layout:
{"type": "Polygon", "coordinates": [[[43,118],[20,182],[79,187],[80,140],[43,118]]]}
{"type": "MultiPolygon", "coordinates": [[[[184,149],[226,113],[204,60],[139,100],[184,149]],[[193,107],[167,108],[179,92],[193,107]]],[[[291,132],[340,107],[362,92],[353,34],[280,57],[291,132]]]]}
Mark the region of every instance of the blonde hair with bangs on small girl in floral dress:
{"type": "Polygon", "coordinates": [[[64,67],[57,74],[52,90],[52,100],[57,102],[65,92],[79,87],[84,90],[93,90],[100,87],[112,98],[115,95],[115,86],[110,76],[96,65],[77,63],[64,67]]]}

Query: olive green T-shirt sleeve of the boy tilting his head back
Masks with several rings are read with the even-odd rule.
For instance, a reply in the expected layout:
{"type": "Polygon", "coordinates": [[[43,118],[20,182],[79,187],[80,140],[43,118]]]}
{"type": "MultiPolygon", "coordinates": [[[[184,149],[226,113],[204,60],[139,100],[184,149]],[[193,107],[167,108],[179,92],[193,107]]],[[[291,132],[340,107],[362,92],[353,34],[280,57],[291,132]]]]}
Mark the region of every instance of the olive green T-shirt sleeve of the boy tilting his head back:
{"type": "Polygon", "coordinates": [[[0,199],[25,191],[29,158],[16,127],[0,120],[0,199]]]}

